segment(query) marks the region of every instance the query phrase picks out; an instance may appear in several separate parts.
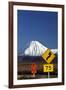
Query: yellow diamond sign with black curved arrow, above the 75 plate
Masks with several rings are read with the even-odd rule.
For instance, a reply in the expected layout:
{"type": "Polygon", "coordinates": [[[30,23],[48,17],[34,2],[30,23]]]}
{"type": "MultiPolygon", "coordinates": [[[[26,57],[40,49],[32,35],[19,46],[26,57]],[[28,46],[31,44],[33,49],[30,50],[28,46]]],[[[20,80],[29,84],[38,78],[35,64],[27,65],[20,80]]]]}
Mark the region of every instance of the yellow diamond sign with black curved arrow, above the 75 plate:
{"type": "Polygon", "coordinates": [[[50,63],[50,62],[52,62],[52,60],[54,60],[55,54],[54,54],[50,49],[47,49],[47,50],[42,54],[42,58],[43,58],[47,63],[50,63]]]}

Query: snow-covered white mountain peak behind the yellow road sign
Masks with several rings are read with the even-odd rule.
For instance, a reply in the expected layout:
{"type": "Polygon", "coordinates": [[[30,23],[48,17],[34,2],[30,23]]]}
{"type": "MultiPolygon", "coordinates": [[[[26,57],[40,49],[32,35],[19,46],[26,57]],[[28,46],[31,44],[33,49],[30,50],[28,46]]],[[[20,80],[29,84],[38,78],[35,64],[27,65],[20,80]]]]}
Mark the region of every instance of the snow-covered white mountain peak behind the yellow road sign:
{"type": "MultiPolygon", "coordinates": [[[[25,50],[24,54],[28,56],[41,56],[48,48],[42,45],[39,41],[31,41],[29,47],[25,50]]],[[[57,49],[51,49],[55,54],[57,49]]]]}

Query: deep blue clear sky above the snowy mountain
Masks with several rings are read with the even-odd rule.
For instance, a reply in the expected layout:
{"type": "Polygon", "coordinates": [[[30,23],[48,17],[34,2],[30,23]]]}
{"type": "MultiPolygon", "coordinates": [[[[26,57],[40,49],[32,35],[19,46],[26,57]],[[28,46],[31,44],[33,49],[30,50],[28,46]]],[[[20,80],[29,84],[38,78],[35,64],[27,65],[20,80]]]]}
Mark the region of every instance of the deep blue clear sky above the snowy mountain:
{"type": "Polygon", "coordinates": [[[57,48],[57,12],[18,10],[17,20],[19,52],[23,52],[34,40],[48,48],[57,48]]]}

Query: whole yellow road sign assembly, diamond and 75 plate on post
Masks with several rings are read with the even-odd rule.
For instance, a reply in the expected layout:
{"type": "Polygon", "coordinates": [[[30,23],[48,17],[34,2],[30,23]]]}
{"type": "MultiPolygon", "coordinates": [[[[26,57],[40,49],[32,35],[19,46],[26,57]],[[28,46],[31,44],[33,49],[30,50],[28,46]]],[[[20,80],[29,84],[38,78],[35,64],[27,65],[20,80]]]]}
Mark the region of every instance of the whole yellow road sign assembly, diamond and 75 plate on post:
{"type": "Polygon", "coordinates": [[[47,49],[45,53],[43,53],[42,58],[48,63],[43,65],[43,72],[48,72],[48,78],[50,77],[50,72],[53,72],[53,64],[50,64],[54,58],[55,54],[50,50],[47,49]]]}

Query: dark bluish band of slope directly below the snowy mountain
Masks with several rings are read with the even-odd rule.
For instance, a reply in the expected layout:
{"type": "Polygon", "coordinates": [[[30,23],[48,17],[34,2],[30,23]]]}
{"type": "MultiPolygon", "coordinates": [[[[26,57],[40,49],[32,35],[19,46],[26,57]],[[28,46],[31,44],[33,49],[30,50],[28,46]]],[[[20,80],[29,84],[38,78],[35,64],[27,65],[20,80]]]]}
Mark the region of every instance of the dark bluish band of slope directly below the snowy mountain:
{"type": "MultiPolygon", "coordinates": [[[[41,56],[18,56],[18,63],[46,63],[41,56]]],[[[51,63],[57,63],[57,54],[51,63]]]]}

